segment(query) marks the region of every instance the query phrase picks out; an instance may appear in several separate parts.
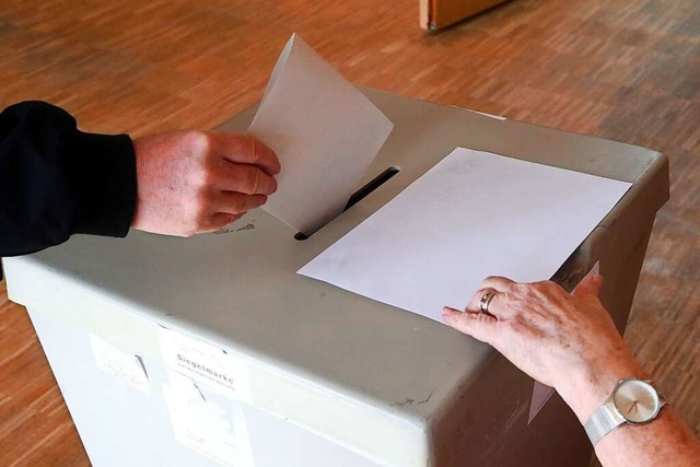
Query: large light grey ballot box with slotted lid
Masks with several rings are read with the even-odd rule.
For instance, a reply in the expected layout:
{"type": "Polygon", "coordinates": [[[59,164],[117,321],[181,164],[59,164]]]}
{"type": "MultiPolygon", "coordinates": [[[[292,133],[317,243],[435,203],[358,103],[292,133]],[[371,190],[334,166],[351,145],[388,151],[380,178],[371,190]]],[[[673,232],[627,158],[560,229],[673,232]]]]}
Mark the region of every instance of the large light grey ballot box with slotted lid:
{"type": "MultiPolygon", "coordinates": [[[[258,209],[215,234],[77,235],[4,259],[9,295],[30,312],[93,465],[588,464],[562,400],[534,402],[535,382],[489,346],[295,271],[471,148],[632,183],[553,277],[571,289],[599,261],[603,302],[623,330],[668,197],[666,157],[363,92],[395,124],[366,182],[384,176],[308,238],[258,209]]],[[[254,113],[220,128],[243,132],[254,113]]]]}

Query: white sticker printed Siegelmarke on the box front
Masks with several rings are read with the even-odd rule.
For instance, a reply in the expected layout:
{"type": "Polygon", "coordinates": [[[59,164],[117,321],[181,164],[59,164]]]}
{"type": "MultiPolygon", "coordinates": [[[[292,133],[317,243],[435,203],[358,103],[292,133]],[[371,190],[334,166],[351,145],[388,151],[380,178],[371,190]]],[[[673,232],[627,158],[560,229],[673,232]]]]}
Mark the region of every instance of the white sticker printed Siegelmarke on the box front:
{"type": "Polygon", "coordinates": [[[215,346],[161,327],[161,350],[165,365],[195,383],[253,404],[248,363],[215,346]]]}

